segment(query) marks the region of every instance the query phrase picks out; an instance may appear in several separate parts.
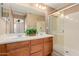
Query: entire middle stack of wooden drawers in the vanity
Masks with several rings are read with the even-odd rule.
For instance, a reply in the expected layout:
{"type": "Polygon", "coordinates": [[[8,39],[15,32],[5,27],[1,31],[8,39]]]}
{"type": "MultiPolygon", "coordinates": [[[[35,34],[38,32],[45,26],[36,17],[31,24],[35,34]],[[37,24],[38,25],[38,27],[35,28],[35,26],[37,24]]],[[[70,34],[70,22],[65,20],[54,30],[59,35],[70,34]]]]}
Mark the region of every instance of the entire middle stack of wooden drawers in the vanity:
{"type": "Polygon", "coordinates": [[[43,39],[31,40],[31,54],[38,56],[43,54],[43,39]]]}

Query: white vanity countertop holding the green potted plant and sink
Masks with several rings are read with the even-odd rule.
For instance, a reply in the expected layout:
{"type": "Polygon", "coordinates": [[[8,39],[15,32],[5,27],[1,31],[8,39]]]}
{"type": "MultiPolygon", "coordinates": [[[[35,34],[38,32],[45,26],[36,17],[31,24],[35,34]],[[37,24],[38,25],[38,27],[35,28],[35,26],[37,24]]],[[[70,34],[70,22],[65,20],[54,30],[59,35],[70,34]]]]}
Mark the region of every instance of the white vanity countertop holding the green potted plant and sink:
{"type": "Polygon", "coordinates": [[[42,34],[42,35],[36,35],[36,36],[25,36],[24,34],[6,34],[6,35],[0,36],[0,44],[20,42],[20,41],[26,41],[26,40],[35,40],[35,39],[53,37],[53,36],[54,35],[49,35],[49,34],[42,34]]]}

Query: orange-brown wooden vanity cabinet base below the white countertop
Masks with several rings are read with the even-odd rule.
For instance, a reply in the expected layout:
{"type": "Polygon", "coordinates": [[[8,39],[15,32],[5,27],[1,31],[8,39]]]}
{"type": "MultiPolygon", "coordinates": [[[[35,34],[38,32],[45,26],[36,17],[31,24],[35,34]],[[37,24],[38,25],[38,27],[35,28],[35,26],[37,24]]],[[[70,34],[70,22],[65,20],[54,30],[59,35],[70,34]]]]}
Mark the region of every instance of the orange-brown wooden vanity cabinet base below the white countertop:
{"type": "Polygon", "coordinates": [[[52,37],[0,44],[0,56],[48,56],[52,47],[52,37]]]}

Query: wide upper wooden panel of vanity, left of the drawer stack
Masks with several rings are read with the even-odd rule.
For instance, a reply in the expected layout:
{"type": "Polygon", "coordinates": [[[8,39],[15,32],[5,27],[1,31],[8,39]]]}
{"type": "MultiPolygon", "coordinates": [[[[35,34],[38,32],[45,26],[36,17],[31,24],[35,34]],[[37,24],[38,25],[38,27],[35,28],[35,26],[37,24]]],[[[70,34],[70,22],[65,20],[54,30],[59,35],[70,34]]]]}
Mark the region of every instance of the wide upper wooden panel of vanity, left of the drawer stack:
{"type": "Polygon", "coordinates": [[[29,47],[30,45],[30,41],[23,41],[23,42],[17,42],[17,43],[10,43],[10,44],[7,44],[7,51],[10,51],[10,50],[14,50],[14,49],[17,49],[17,48],[21,48],[21,47],[29,47]]]}

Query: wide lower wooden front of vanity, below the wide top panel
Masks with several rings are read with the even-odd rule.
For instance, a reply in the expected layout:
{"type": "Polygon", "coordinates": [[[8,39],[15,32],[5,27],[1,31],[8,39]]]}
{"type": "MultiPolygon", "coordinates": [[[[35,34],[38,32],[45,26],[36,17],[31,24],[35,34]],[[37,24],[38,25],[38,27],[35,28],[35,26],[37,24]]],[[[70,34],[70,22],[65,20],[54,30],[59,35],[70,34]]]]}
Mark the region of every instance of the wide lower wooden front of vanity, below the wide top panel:
{"type": "Polygon", "coordinates": [[[25,48],[9,51],[7,55],[8,56],[29,56],[30,52],[29,52],[29,48],[25,47],[25,48]]]}

